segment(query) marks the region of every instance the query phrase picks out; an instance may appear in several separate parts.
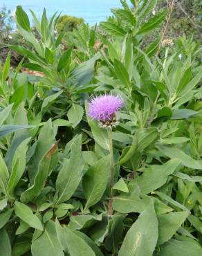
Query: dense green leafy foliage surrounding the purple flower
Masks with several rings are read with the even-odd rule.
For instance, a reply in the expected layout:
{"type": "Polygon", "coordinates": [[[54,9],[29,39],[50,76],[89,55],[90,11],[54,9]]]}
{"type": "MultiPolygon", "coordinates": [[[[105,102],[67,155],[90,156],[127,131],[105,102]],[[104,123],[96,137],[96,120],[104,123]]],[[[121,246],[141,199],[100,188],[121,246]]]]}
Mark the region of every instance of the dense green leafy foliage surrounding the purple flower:
{"type": "Polygon", "coordinates": [[[23,58],[0,65],[0,255],[202,255],[199,38],[153,40],[171,7],[121,2],[69,37],[57,13],[32,12],[31,28],[17,7],[26,44],[4,47],[23,58]],[[103,94],[123,102],[112,129],[88,114],[103,94]]]}

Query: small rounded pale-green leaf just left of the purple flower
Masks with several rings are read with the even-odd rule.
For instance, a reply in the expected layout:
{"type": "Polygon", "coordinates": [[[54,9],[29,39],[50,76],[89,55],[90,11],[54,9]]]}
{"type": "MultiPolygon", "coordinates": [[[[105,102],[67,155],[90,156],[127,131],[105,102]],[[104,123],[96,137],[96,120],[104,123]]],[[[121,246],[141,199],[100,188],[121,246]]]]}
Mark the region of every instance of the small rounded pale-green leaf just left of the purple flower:
{"type": "Polygon", "coordinates": [[[82,120],[84,115],[84,109],[78,104],[72,104],[71,108],[67,112],[69,122],[75,128],[82,120]]]}

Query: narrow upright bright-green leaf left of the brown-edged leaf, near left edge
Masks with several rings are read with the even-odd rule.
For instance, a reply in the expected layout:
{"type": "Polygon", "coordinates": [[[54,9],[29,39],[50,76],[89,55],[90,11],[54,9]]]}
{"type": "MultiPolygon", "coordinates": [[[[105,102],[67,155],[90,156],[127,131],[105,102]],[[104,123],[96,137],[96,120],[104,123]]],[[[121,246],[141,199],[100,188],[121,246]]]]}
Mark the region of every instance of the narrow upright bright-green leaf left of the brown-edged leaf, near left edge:
{"type": "Polygon", "coordinates": [[[12,160],[12,172],[10,174],[10,179],[8,181],[8,193],[12,194],[21,179],[21,176],[24,174],[26,167],[26,152],[28,150],[28,143],[30,138],[24,140],[16,149],[15,155],[12,160]]]}

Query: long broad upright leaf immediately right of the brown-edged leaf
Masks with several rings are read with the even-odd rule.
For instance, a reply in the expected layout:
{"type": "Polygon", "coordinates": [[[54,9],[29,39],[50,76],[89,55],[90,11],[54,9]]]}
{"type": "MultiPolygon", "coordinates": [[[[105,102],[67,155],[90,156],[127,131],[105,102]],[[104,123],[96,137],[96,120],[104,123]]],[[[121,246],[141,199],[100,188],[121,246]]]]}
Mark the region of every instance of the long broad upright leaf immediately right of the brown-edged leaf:
{"type": "Polygon", "coordinates": [[[57,203],[62,203],[70,199],[82,180],[84,161],[81,149],[82,136],[77,136],[71,144],[70,158],[64,159],[62,169],[57,176],[57,203]]]}

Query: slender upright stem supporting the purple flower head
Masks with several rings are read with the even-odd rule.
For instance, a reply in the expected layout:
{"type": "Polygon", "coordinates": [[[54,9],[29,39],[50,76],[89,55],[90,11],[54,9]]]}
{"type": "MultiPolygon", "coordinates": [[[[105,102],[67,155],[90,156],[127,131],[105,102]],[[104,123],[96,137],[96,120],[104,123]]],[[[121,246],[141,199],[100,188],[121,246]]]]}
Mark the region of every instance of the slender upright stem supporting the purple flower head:
{"type": "Polygon", "coordinates": [[[112,197],[112,188],[113,188],[113,179],[114,179],[114,163],[113,163],[113,143],[112,143],[112,129],[107,129],[108,141],[109,141],[109,154],[110,154],[110,199],[109,199],[109,210],[108,214],[113,214],[113,197],[112,197]]]}

